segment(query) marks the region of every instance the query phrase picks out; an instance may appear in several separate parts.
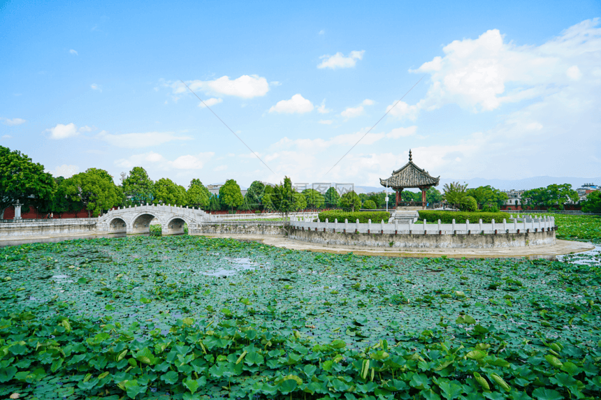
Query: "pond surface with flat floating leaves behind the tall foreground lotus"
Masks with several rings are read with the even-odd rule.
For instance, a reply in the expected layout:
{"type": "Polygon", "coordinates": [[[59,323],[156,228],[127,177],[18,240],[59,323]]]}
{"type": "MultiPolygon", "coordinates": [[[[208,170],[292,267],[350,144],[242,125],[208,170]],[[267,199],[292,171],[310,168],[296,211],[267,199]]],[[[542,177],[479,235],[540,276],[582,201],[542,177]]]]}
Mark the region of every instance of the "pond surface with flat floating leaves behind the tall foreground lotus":
{"type": "Polygon", "coordinates": [[[0,299],[4,307],[50,304],[49,315],[59,307],[138,323],[140,333],[187,316],[215,323],[243,316],[277,329],[284,321],[316,341],[362,343],[468,313],[519,335],[589,337],[588,323],[567,332],[572,311],[555,309],[601,302],[598,283],[586,283],[594,275],[583,269],[599,265],[600,250],[555,261],[391,258],[190,236],[75,240],[0,250],[0,279],[10,277],[0,299]],[[543,318],[540,307],[556,318],[543,318]]]}

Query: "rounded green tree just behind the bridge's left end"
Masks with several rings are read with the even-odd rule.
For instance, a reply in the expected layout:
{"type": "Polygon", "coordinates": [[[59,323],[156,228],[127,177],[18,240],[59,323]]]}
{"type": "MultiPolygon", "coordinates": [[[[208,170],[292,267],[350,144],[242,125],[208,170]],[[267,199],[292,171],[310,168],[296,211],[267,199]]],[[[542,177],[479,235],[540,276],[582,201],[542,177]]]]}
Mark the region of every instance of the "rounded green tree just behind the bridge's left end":
{"type": "Polygon", "coordinates": [[[70,200],[85,206],[88,218],[90,214],[99,216],[103,210],[120,205],[123,200],[122,189],[107,175],[104,170],[89,168],[65,179],[61,188],[70,200]]]}

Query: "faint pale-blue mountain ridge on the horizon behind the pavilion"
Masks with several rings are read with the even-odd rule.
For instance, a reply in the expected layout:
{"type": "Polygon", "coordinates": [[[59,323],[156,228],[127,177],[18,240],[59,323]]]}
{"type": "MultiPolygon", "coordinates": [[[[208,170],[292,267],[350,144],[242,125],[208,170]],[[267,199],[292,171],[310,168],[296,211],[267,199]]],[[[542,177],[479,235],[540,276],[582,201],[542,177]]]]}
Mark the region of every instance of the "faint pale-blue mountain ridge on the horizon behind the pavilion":
{"type": "MultiPolygon", "coordinates": [[[[541,188],[549,186],[551,184],[571,184],[572,188],[579,188],[584,184],[598,184],[601,185],[601,177],[598,178],[575,178],[575,177],[532,177],[524,179],[486,179],[486,178],[473,178],[473,179],[440,179],[440,185],[437,189],[442,191],[444,184],[451,182],[464,182],[468,184],[468,188],[477,188],[478,186],[491,185],[493,188],[498,188],[502,191],[510,189],[516,190],[528,190],[533,188],[541,188]]],[[[356,193],[370,193],[383,191],[382,186],[355,186],[356,193]]],[[[417,191],[418,189],[409,189],[417,191]]]]}

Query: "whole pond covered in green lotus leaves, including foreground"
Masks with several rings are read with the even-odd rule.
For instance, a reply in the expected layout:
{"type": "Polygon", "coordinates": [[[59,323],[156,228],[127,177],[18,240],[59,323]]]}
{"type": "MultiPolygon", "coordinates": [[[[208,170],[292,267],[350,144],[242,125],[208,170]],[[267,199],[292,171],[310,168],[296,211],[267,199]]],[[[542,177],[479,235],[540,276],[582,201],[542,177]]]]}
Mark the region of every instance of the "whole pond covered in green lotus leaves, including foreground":
{"type": "Polygon", "coordinates": [[[597,399],[601,257],[205,237],[0,249],[0,396],[597,399]]]}

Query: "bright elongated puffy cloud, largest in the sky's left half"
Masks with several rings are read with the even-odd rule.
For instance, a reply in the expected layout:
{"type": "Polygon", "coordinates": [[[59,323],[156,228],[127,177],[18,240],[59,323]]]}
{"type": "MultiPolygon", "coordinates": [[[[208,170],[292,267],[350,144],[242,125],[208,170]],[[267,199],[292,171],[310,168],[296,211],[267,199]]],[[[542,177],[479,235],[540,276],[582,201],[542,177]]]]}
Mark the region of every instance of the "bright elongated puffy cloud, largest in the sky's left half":
{"type": "MultiPolygon", "coordinates": [[[[222,76],[216,80],[191,80],[186,83],[193,91],[201,90],[206,94],[241,98],[265,96],[269,91],[267,80],[259,75],[242,75],[234,80],[222,76]]],[[[173,94],[182,94],[188,90],[181,82],[173,82],[170,86],[173,88],[173,94]]]]}

